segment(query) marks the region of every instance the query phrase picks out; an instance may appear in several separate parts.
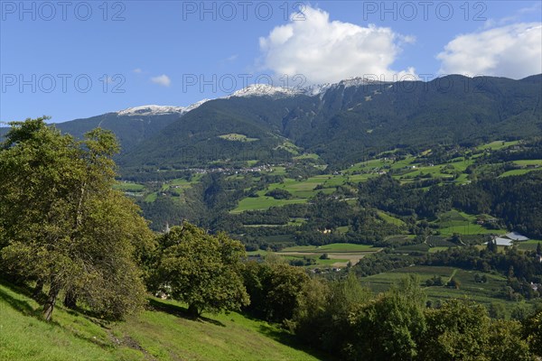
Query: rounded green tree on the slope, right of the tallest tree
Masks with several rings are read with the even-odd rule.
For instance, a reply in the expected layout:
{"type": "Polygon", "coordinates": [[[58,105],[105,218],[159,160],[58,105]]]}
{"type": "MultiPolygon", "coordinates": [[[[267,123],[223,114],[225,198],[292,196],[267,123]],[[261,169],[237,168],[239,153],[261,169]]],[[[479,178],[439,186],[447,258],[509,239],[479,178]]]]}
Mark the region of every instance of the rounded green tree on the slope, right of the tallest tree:
{"type": "Polygon", "coordinates": [[[211,236],[185,222],[160,236],[158,243],[154,288],[188,303],[193,317],[204,310],[240,310],[249,304],[241,276],[246,252],[240,242],[224,233],[211,236]]]}

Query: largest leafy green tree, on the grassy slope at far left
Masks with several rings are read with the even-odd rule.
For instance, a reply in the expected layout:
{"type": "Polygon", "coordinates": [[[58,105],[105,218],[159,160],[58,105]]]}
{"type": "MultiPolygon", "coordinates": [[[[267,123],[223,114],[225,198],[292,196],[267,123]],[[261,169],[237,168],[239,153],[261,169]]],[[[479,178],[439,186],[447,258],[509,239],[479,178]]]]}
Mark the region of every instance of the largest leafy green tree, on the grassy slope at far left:
{"type": "Polygon", "coordinates": [[[96,129],[79,142],[45,120],[12,123],[0,148],[3,272],[49,284],[47,320],[62,290],[70,303],[79,297],[121,318],[145,301],[135,252],[151,246],[151,234],[112,190],[117,141],[96,129]]]}

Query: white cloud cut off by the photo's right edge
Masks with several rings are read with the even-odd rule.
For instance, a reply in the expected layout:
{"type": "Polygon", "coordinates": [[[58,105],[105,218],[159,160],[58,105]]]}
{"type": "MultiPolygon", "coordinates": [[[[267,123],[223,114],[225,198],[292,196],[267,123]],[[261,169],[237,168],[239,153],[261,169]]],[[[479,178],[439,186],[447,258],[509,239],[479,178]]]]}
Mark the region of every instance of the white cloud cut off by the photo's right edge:
{"type": "Polygon", "coordinates": [[[462,34],[436,58],[443,74],[521,79],[542,73],[542,23],[515,23],[462,34]]]}

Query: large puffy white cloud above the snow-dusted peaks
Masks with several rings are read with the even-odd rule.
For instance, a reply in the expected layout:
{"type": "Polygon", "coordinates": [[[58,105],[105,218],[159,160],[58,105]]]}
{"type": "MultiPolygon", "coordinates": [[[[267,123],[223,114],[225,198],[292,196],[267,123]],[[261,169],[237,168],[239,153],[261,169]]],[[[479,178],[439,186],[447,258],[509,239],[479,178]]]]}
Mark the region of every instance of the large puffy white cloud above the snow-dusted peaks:
{"type": "Polygon", "coordinates": [[[390,68],[401,45],[414,38],[375,25],[331,22],[328,13],[310,6],[304,15],[304,21],[292,19],[259,39],[263,67],[277,76],[301,74],[311,83],[322,83],[368,74],[392,79],[414,72],[390,68]]]}

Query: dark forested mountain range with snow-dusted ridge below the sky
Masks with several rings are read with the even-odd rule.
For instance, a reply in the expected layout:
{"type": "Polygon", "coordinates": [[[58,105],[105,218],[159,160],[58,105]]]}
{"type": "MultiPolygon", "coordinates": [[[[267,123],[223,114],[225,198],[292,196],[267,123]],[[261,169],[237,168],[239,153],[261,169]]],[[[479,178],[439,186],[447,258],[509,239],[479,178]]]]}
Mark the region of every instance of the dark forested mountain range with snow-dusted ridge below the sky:
{"type": "Polygon", "coordinates": [[[257,85],[186,108],[140,106],[57,126],[78,137],[112,130],[123,146],[117,161],[130,171],[284,162],[299,153],[339,168],[397,147],[540,134],[541,99],[542,75],[349,79],[307,89],[257,85]]]}

